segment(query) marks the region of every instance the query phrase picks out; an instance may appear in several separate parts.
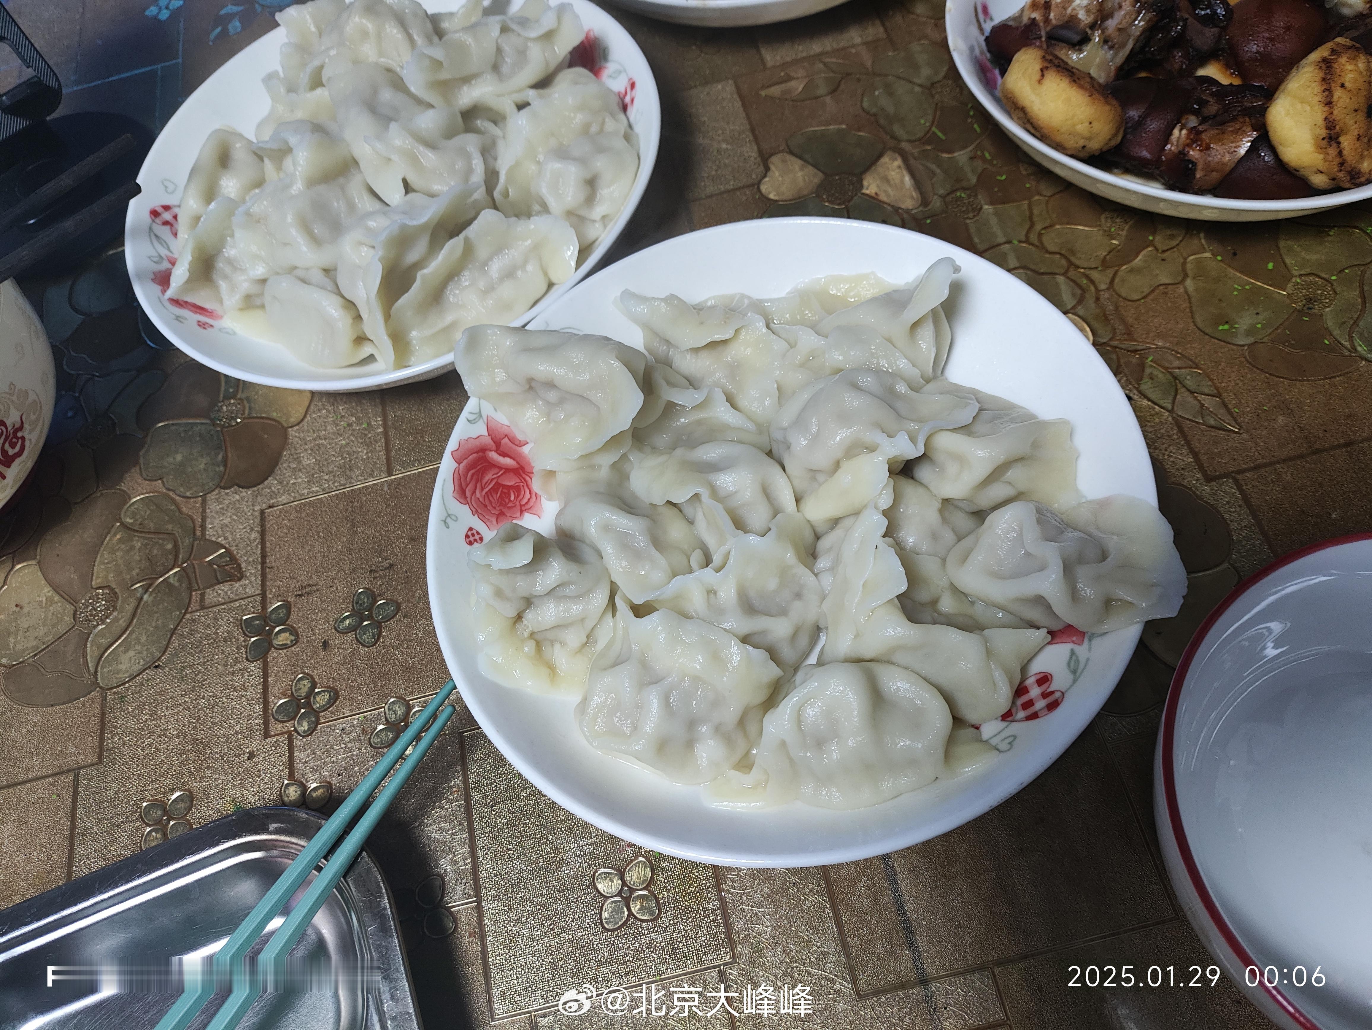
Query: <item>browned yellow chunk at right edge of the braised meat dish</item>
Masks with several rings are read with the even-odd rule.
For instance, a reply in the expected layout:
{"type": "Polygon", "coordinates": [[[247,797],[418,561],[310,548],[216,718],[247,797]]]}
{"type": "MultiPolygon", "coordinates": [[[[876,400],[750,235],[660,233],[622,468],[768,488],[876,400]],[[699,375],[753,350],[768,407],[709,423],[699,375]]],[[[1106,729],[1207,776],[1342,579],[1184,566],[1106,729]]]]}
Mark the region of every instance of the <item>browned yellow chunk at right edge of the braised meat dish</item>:
{"type": "Polygon", "coordinates": [[[1297,64],[1268,107],[1281,162],[1316,189],[1372,182],[1372,56],[1336,38],[1297,64]]]}

